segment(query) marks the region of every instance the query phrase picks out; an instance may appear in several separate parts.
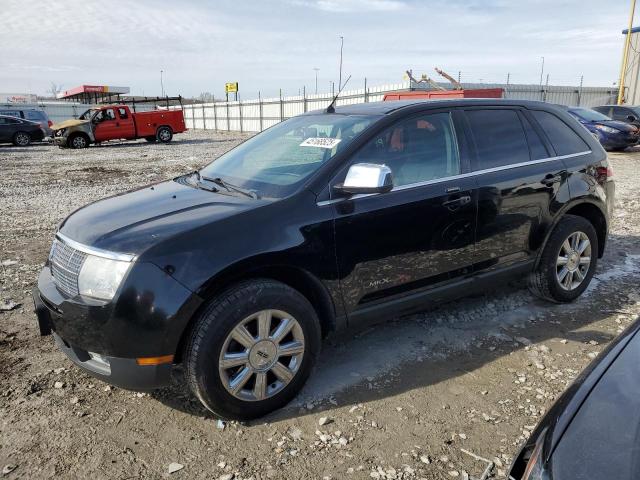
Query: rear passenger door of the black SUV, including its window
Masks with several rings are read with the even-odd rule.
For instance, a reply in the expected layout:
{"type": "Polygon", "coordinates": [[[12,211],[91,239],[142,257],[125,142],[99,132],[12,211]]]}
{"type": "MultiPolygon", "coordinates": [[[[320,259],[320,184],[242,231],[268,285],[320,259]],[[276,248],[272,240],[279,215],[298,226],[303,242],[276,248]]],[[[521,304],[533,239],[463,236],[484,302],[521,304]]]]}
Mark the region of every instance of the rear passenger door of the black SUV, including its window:
{"type": "Polygon", "coordinates": [[[532,260],[567,172],[529,114],[520,108],[465,109],[471,168],[479,189],[477,271],[532,260]]]}

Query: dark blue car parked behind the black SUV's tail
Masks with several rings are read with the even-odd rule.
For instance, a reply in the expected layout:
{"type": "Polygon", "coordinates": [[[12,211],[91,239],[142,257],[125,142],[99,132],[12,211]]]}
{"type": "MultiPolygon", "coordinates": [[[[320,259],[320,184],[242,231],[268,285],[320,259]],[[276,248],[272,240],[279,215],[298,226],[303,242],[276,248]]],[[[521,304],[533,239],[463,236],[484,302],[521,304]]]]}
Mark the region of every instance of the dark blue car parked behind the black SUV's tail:
{"type": "Polygon", "coordinates": [[[634,125],[612,120],[588,108],[569,107],[568,111],[600,141],[605,150],[624,150],[636,145],[640,139],[640,130],[634,125]]]}

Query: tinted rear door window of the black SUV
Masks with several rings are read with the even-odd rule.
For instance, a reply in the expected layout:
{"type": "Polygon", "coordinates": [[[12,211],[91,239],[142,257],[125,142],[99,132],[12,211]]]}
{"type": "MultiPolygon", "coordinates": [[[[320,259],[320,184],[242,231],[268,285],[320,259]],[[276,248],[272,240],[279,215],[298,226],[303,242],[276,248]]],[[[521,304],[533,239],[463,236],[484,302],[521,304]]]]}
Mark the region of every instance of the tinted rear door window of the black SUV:
{"type": "Polygon", "coordinates": [[[529,161],[529,146],[516,110],[466,112],[478,153],[474,170],[529,161]]]}

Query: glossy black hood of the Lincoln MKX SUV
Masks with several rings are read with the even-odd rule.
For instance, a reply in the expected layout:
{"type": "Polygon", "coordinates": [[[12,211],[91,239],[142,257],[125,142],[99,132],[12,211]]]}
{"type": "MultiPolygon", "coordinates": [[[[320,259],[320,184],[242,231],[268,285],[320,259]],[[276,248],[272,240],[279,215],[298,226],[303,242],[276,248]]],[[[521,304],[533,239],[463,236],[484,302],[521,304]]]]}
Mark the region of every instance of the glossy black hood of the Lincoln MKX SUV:
{"type": "Polygon", "coordinates": [[[60,233],[87,246],[140,255],[174,235],[266,203],[170,180],[82,207],[60,233]]]}

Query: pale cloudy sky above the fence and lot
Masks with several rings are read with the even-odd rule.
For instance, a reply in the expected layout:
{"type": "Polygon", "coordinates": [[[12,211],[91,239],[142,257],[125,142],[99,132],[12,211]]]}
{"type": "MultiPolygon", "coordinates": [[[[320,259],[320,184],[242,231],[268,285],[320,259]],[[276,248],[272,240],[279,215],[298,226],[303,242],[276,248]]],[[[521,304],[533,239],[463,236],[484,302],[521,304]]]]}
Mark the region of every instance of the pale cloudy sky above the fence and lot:
{"type": "Polygon", "coordinates": [[[468,82],[610,86],[628,2],[616,0],[2,0],[0,91],[44,94],[51,82],[169,95],[242,98],[400,82],[404,71],[468,82]]]}

